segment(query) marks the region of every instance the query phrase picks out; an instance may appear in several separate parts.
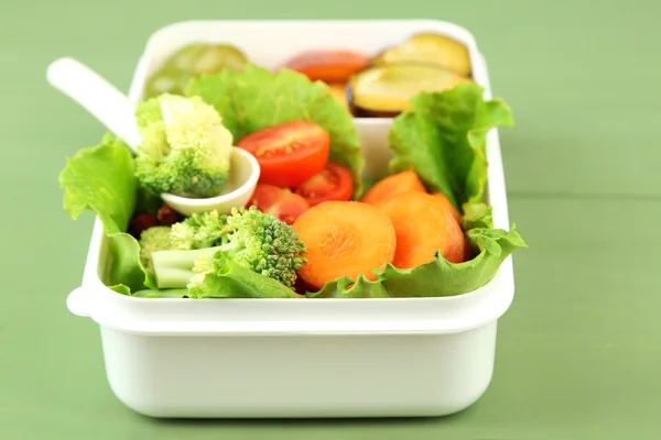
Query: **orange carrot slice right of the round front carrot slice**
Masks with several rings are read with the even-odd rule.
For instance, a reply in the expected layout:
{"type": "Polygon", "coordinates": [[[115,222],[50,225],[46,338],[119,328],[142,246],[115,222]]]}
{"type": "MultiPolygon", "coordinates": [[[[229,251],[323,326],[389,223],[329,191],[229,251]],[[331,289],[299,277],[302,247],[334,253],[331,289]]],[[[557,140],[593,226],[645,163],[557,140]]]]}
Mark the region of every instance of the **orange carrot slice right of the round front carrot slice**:
{"type": "Polygon", "coordinates": [[[392,264],[411,268],[435,258],[437,251],[449,262],[466,255],[466,238],[452,211],[425,193],[405,193],[379,205],[392,221],[397,250],[392,264]]]}

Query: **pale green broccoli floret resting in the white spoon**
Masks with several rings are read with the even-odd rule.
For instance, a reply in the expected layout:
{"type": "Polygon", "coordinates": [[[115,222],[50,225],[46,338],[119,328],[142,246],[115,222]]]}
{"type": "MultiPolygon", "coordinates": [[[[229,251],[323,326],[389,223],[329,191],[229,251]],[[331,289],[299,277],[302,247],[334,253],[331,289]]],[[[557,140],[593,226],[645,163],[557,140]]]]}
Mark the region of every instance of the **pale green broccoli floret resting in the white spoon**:
{"type": "Polygon", "coordinates": [[[154,194],[212,197],[230,173],[232,134],[216,109],[199,97],[164,94],[136,110],[142,142],[136,177],[154,194]]]}

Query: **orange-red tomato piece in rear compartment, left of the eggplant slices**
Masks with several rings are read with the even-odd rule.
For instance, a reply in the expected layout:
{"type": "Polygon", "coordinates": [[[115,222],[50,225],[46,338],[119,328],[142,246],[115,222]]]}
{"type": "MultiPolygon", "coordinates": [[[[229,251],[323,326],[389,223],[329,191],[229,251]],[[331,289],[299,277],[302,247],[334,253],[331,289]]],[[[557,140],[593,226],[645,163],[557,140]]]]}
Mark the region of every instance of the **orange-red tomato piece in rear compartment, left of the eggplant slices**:
{"type": "Polygon", "coordinates": [[[308,51],[289,59],[284,67],[300,72],[313,81],[346,82],[369,63],[367,55],[353,51],[308,51]]]}

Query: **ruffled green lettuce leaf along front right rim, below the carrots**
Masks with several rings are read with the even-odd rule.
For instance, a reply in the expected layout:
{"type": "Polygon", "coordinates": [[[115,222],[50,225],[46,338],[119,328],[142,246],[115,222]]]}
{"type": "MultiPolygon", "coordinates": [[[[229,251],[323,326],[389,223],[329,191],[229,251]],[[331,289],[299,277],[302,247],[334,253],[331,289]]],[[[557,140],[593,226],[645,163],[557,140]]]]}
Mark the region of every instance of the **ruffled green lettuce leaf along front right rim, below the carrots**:
{"type": "Polygon", "coordinates": [[[349,278],[327,283],[321,290],[308,293],[308,298],[412,298],[462,295],[488,284],[500,264],[513,251],[528,245],[516,226],[511,230],[475,228],[468,231],[468,242],[478,250],[475,258],[451,263],[443,256],[414,268],[400,270],[387,265],[375,271],[377,280],[360,276],[351,285],[349,278]]]}

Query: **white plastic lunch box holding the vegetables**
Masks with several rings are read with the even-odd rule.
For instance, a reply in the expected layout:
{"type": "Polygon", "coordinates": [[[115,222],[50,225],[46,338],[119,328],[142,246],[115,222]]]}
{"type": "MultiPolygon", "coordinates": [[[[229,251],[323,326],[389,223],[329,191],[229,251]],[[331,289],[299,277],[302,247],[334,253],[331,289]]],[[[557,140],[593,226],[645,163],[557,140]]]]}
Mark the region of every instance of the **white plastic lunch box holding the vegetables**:
{"type": "MultiPolygon", "coordinates": [[[[188,21],[153,34],[130,97],[180,47],[228,42],[275,67],[312,48],[377,54],[432,31],[464,43],[474,79],[490,88],[469,32],[442,21],[188,21]]],[[[384,175],[390,119],[355,119],[366,175],[384,175]]],[[[487,141],[496,228],[509,229],[497,130],[487,141]]],[[[82,286],[68,309],[100,326],[108,382],[153,417],[443,416],[474,404],[494,373],[497,320],[514,293],[511,255],[483,288],[455,297],[391,299],[145,299],[101,282],[107,246],[95,221],[82,286]]]]}

